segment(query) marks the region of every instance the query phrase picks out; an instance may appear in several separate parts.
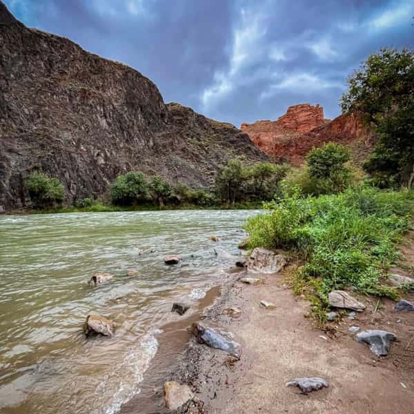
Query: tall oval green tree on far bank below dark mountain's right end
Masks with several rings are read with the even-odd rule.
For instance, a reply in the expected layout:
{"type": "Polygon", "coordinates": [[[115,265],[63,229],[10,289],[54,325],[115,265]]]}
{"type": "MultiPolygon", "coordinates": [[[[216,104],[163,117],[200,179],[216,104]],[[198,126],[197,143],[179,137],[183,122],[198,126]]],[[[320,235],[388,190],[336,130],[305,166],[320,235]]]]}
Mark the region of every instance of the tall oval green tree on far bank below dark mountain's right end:
{"type": "Polygon", "coordinates": [[[215,189],[221,200],[234,204],[242,193],[247,172],[239,159],[230,159],[217,175],[215,189]]]}

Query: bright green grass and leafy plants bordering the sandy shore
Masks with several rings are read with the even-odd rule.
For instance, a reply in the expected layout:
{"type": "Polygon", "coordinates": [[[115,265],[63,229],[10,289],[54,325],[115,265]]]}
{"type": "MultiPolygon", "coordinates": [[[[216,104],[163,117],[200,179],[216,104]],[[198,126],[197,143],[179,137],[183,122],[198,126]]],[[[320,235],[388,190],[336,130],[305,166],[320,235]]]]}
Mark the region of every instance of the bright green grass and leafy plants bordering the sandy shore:
{"type": "Polygon", "coordinates": [[[296,192],[267,209],[248,220],[250,247],[296,253],[304,266],[295,273],[294,292],[311,299],[320,317],[328,307],[328,293],[346,286],[397,297],[398,291],[384,282],[409,228],[407,194],[365,186],[321,197],[303,198],[296,192]]]}

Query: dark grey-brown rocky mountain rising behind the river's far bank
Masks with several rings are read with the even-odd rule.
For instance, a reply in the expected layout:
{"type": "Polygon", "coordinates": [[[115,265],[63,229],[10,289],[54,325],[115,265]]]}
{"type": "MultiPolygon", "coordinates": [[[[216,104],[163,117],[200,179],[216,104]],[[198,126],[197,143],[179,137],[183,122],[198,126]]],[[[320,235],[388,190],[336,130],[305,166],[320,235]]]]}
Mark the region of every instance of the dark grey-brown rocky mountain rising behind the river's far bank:
{"type": "Polygon", "coordinates": [[[165,104],[141,73],[27,28],[0,1],[0,206],[25,205],[33,170],[72,203],[130,170],[207,187],[232,157],[267,159],[233,125],[165,104]]]}

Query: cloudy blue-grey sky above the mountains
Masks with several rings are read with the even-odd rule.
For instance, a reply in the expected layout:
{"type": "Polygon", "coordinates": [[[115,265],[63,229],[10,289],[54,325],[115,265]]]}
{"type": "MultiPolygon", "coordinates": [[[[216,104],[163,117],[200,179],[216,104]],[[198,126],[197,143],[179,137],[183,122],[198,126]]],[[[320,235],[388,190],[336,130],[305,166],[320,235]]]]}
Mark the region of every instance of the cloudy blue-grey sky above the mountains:
{"type": "Polygon", "coordinates": [[[340,113],[382,47],[414,48],[414,0],[3,0],[27,26],[139,70],[164,101],[236,126],[297,103],[340,113]]]}

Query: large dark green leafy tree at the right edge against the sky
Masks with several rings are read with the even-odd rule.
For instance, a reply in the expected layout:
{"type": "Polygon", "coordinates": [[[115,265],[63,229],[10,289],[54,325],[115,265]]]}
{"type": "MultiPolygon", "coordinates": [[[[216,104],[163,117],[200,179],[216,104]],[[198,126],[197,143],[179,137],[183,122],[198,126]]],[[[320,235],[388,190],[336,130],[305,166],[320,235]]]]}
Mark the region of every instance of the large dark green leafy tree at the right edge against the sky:
{"type": "Polygon", "coordinates": [[[379,139],[364,164],[376,184],[414,179],[414,51],[382,49],[348,79],[342,112],[359,111],[379,139]]]}

